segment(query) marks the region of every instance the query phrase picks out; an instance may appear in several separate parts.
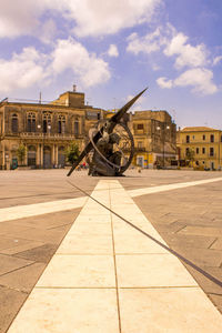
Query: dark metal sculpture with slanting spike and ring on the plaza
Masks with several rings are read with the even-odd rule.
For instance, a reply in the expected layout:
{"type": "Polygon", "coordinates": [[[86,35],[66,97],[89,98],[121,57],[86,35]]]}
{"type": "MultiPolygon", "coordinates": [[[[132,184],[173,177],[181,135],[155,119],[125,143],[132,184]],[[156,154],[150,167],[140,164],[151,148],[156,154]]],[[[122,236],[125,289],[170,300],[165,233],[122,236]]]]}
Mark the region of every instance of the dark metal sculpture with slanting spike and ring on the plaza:
{"type": "Polygon", "coordinates": [[[97,124],[89,131],[89,143],[72,164],[68,176],[79,165],[83,158],[89,164],[89,174],[120,176],[129,168],[134,153],[133,137],[128,128],[127,111],[145,91],[141,91],[123,105],[115,114],[97,124]]]}

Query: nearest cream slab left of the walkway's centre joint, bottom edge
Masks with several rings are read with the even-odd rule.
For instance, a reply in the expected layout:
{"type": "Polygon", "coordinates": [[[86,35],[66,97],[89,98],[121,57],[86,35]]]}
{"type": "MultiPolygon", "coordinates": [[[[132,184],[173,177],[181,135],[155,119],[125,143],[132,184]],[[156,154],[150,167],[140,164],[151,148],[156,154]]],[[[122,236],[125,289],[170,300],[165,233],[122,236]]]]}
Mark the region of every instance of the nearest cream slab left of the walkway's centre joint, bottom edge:
{"type": "Polygon", "coordinates": [[[8,332],[119,332],[115,290],[34,289],[8,332]]]}

